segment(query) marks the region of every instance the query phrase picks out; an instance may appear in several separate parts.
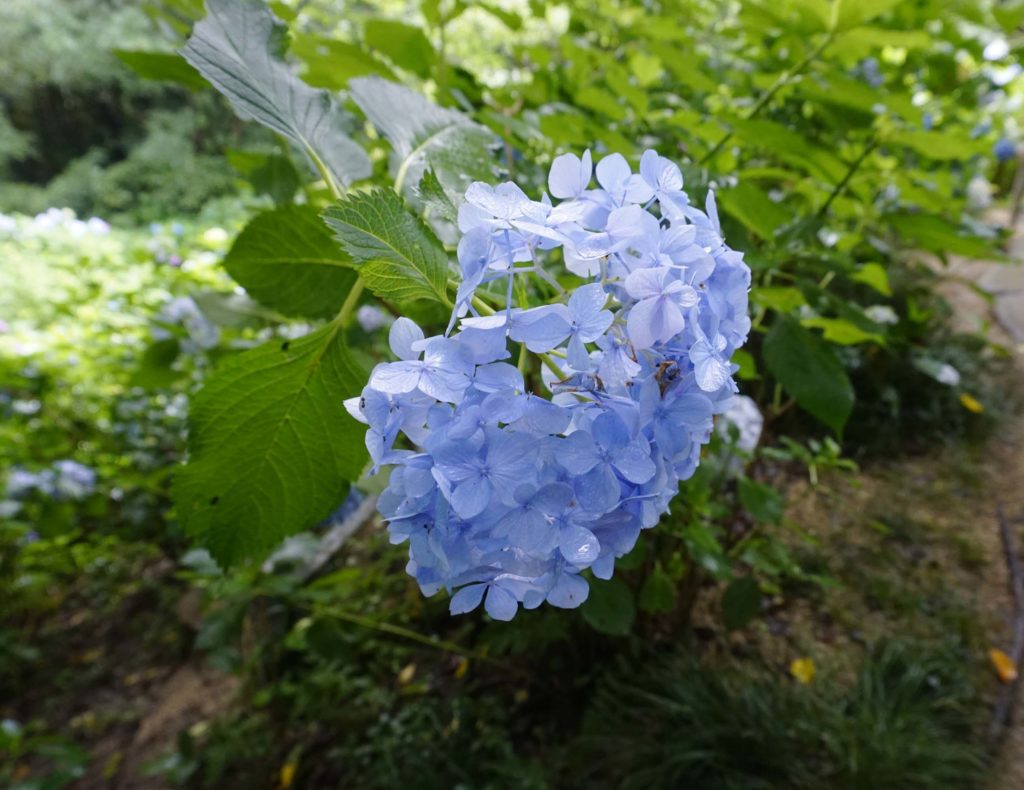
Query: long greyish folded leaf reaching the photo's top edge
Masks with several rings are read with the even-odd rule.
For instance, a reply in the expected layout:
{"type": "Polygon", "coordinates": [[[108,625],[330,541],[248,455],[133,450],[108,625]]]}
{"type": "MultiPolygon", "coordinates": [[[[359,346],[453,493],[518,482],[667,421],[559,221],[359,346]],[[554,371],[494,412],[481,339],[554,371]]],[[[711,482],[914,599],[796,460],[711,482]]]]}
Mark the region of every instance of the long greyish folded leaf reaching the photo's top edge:
{"type": "Polygon", "coordinates": [[[370,158],[343,131],[348,114],[284,61],[284,23],[261,0],[207,0],[206,7],[181,54],[239,116],[292,140],[342,185],[369,176],[370,158]]]}

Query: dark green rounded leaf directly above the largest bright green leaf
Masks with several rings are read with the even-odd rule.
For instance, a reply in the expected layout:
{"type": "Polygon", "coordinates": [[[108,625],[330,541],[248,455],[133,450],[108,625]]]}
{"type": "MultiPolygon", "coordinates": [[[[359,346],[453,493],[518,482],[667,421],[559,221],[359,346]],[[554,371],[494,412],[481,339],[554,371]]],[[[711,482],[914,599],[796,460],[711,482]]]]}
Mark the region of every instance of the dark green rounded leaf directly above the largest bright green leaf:
{"type": "Polygon", "coordinates": [[[224,257],[254,299],[287,316],[331,318],[355,285],[351,258],[310,206],[257,214],[224,257]]]}

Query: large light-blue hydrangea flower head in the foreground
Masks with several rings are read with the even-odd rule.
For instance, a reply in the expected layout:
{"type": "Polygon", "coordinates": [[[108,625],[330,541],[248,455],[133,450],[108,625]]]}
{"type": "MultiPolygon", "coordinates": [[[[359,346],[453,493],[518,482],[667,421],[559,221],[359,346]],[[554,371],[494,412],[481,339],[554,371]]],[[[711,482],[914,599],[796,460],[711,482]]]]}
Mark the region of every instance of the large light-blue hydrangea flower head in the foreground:
{"type": "Polygon", "coordinates": [[[482,602],[498,620],[578,607],[583,573],[610,578],[657,523],[736,391],[750,268],[714,193],[691,205],[653,151],[638,173],[616,154],[596,168],[589,151],[560,156],[540,201],[473,183],[458,220],[447,332],[395,321],[397,361],[346,406],[369,426],[374,471],[394,467],[379,509],[424,594],[446,588],[453,614],[482,602]],[[582,281],[571,293],[557,265],[582,281]],[[559,300],[513,303],[522,277],[559,300]],[[479,298],[492,283],[504,306],[479,298]],[[540,356],[547,392],[527,390],[510,346],[540,356]]]}

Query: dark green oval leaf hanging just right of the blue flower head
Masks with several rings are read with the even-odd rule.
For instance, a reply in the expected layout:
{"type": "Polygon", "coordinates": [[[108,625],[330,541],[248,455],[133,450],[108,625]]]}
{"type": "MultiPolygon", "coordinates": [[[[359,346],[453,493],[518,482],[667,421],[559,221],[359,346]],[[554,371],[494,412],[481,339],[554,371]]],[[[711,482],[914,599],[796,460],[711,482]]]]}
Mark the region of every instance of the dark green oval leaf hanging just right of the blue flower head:
{"type": "Polygon", "coordinates": [[[780,316],[765,338],[764,361],[802,409],[843,432],[853,411],[853,386],[824,340],[780,316]]]}

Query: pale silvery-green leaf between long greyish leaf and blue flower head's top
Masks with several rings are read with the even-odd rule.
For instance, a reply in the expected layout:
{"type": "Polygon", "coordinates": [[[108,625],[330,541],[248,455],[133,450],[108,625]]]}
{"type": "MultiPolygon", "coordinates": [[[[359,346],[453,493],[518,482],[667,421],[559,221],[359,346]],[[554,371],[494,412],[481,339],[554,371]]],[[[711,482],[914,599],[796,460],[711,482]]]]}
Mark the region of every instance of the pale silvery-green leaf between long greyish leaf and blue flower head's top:
{"type": "Polygon", "coordinates": [[[379,77],[353,79],[349,89],[355,103],[391,143],[396,192],[418,184],[430,167],[458,205],[471,182],[494,177],[496,140],[489,129],[379,77]]]}

